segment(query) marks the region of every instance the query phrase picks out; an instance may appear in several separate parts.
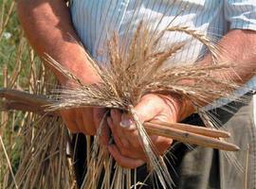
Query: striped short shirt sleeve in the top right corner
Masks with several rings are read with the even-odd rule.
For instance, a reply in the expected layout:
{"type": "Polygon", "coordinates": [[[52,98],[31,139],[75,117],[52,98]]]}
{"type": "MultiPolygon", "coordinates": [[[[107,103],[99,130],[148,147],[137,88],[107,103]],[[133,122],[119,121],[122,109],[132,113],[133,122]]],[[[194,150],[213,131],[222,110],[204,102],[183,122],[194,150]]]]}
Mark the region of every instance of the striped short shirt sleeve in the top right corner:
{"type": "Polygon", "coordinates": [[[224,0],[229,29],[256,30],[256,0],[224,0]]]}

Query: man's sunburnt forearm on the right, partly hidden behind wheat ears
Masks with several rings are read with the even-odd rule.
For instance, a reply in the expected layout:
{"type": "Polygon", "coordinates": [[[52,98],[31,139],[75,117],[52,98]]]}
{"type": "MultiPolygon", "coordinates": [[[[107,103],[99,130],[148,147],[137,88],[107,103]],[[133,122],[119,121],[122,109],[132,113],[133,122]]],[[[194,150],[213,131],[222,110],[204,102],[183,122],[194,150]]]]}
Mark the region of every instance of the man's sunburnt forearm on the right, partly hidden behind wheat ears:
{"type": "MultiPolygon", "coordinates": [[[[219,49],[219,62],[227,62],[232,64],[230,70],[225,73],[211,72],[211,77],[219,78],[220,80],[232,80],[237,83],[237,86],[245,84],[251,77],[255,75],[256,70],[256,31],[250,30],[230,30],[229,33],[222,38],[217,44],[219,49]]],[[[199,64],[212,63],[210,55],[206,56],[199,64]]],[[[220,90],[221,85],[214,85],[214,83],[202,83],[210,89],[220,90]]],[[[216,100],[216,96],[208,96],[208,101],[216,100]]],[[[176,100],[179,109],[179,121],[186,118],[194,109],[190,100],[180,101],[176,100]]],[[[207,106],[206,101],[198,101],[201,107],[207,106]]]]}

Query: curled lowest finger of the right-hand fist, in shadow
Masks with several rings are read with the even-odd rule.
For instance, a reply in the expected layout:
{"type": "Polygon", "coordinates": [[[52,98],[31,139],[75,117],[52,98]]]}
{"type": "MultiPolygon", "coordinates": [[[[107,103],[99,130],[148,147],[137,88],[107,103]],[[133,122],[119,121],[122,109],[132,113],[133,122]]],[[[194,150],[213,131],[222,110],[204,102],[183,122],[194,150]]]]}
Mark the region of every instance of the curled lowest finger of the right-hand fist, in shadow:
{"type": "Polygon", "coordinates": [[[122,156],[119,152],[119,149],[115,145],[108,146],[108,150],[116,162],[119,163],[119,165],[122,167],[134,169],[144,163],[144,161],[139,159],[132,159],[122,156]]]}

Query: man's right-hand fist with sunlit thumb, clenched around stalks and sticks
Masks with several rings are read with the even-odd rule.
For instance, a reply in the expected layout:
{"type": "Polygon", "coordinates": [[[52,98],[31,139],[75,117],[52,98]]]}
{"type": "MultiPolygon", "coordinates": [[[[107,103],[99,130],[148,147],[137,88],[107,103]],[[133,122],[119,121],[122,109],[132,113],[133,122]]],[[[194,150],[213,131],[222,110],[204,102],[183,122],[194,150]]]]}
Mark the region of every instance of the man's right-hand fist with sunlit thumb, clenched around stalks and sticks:
{"type": "MultiPolygon", "coordinates": [[[[146,94],[135,107],[141,123],[150,121],[177,122],[180,116],[180,99],[163,94],[146,94]]],[[[136,168],[147,162],[140,145],[136,126],[130,116],[118,110],[111,111],[107,119],[115,145],[108,146],[109,152],[119,165],[136,168]]],[[[159,155],[164,154],[173,140],[161,136],[150,136],[159,155]]]]}

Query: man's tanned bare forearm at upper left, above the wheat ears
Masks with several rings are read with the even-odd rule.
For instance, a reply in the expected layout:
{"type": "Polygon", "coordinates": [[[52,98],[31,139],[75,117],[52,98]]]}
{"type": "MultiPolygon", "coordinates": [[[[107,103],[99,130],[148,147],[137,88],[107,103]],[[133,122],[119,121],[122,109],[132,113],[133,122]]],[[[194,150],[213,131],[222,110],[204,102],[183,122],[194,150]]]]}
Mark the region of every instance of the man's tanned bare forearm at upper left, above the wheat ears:
{"type": "MultiPolygon", "coordinates": [[[[19,0],[17,5],[27,39],[41,57],[48,54],[83,82],[97,79],[78,43],[79,37],[63,0],[19,0]]],[[[60,73],[54,69],[53,72],[61,83],[66,82],[60,73]]]]}

